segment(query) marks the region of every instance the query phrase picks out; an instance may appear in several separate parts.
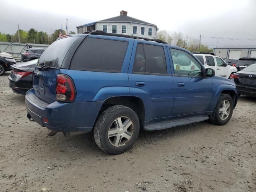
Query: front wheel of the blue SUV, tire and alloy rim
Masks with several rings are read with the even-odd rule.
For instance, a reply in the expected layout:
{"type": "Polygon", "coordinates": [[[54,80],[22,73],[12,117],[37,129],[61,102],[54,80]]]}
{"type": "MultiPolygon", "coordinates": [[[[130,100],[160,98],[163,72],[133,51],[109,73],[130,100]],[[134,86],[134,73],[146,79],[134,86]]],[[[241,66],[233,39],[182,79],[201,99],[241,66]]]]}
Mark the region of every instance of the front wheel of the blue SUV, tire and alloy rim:
{"type": "Polygon", "coordinates": [[[210,118],[210,122],[217,125],[225,125],[229,122],[234,110],[234,102],[230,95],[221,94],[216,108],[210,118]]]}

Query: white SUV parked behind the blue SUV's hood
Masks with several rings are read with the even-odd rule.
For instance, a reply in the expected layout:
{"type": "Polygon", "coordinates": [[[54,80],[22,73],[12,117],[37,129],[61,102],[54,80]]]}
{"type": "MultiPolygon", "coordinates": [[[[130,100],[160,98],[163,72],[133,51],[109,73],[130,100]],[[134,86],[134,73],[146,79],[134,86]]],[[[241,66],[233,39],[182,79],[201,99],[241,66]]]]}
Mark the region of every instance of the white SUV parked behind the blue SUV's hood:
{"type": "Polygon", "coordinates": [[[222,58],[213,53],[193,52],[193,54],[206,68],[214,69],[217,76],[230,78],[232,73],[237,72],[235,67],[228,65],[222,58]]]}

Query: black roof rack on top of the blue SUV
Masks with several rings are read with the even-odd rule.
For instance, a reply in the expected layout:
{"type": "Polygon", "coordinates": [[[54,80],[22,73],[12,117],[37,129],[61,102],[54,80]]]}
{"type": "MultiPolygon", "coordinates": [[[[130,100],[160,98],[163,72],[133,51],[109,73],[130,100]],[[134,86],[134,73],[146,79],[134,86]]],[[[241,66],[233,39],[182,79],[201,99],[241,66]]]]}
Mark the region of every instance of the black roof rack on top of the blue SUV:
{"type": "Polygon", "coordinates": [[[122,35],[122,34],[116,34],[116,33],[106,33],[102,30],[87,31],[87,32],[84,32],[83,34],[125,37],[125,38],[131,38],[131,39],[141,39],[141,40],[146,40],[146,41],[154,41],[154,42],[158,42],[158,43],[168,44],[168,43],[166,43],[162,40],[159,40],[159,39],[149,39],[149,38],[137,37],[137,36],[133,36],[133,35],[122,35]]]}

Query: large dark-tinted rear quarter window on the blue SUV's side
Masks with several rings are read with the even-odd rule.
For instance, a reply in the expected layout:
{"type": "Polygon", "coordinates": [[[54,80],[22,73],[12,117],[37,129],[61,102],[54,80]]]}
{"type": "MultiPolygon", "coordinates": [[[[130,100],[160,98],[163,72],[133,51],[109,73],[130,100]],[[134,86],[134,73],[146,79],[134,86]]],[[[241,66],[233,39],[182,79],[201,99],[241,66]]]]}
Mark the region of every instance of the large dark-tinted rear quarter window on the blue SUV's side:
{"type": "Polygon", "coordinates": [[[72,60],[71,69],[120,72],[128,42],[98,38],[87,38],[72,60]]]}

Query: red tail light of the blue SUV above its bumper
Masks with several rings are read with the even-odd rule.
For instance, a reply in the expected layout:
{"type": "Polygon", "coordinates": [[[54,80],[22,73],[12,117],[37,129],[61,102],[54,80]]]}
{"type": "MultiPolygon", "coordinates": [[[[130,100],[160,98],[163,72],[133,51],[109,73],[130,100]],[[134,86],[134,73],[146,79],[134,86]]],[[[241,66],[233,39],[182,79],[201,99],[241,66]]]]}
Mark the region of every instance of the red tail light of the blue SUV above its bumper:
{"type": "Polygon", "coordinates": [[[76,88],[73,80],[64,74],[58,74],[56,84],[56,99],[63,102],[72,102],[76,98],[76,88]]]}

